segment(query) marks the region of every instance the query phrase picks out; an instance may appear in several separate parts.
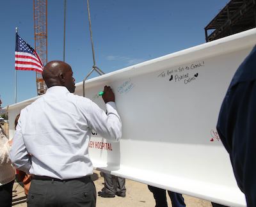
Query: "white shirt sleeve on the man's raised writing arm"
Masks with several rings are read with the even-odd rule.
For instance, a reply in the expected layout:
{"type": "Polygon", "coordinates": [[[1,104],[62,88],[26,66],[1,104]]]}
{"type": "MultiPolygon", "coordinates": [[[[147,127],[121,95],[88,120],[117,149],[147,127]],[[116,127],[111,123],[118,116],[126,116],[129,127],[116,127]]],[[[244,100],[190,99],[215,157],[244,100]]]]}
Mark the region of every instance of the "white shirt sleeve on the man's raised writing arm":
{"type": "Polygon", "coordinates": [[[97,104],[91,102],[91,106],[90,120],[88,120],[90,128],[109,141],[120,141],[122,137],[122,121],[116,111],[115,102],[106,104],[107,114],[97,104]]]}

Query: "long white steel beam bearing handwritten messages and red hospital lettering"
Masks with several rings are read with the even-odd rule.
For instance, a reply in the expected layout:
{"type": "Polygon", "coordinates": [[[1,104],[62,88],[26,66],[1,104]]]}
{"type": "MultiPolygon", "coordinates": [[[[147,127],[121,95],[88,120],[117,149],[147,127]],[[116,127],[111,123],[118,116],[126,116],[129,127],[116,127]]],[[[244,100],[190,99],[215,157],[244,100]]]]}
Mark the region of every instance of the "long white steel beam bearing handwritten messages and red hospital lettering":
{"type": "MultiPolygon", "coordinates": [[[[255,43],[256,29],[251,29],[86,81],[86,97],[104,110],[99,92],[111,86],[123,124],[119,143],[92,132],[95,169],[227,206],[246,206],[216,123],[230,81],[255,43]]],[[[75,93],[83,95],[83,82],[75,93]]],[[[9,107],[10,129],[25,105],[9,107]]]]}

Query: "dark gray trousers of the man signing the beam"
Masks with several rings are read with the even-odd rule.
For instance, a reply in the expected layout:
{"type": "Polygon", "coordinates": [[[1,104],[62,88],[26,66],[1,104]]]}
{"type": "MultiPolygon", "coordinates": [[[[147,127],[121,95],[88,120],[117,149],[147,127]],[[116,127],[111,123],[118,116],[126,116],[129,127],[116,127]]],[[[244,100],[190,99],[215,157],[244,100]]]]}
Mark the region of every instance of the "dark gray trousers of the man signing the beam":
{"type": "Polygon", "coordinates": [[[95,207],[96,189],[90,177],[75,180],[31,180],[28,207],[95,207]]]}

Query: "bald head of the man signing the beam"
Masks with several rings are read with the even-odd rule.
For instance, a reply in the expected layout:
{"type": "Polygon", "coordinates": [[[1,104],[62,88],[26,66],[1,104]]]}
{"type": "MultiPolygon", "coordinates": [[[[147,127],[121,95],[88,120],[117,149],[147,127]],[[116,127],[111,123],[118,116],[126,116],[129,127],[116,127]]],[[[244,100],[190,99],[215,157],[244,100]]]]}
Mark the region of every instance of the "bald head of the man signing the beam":
{"type": "Polygon", "coordinates": [[[75,79],[71,67],[63,61],[51,61],[47,63],[42,72],[45,84],[52,86],[65,86],[70,93],[75,91],[75,79]]]}

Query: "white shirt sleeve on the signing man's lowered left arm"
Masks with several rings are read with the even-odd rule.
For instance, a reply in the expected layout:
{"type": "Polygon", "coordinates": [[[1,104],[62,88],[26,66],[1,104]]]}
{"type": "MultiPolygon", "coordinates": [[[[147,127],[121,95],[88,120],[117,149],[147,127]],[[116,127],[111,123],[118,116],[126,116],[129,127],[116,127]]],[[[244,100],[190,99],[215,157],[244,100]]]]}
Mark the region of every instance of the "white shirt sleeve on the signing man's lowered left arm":
{"type": "Polygon", "coordinates": [[[24,143],[22,134],[22,112],[20,113],[20,118],[16,127],[16,131],[13,137],[12,148],[10,151],[10,159],[12,164],[19,169],[29,174],[29,169],[31,167],[31,155],[29,155],[26,145],[24,143]]]}

